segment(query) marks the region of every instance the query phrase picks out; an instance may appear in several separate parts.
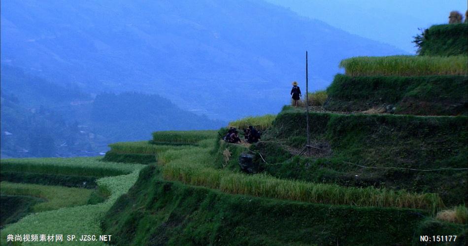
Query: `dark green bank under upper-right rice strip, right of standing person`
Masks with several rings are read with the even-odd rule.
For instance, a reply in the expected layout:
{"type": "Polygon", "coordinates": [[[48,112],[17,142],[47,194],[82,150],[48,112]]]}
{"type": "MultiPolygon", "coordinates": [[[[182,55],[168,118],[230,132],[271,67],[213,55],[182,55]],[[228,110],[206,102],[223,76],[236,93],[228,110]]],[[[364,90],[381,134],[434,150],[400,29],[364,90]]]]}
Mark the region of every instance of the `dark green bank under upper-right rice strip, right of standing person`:
{"type": "MultiPolygon", "coordinates": [[[[468,108],[467,76],[368,76],[336,75],[328,87],[325,109],[364,111],[392,104],[397,114],[460,115],[468,108]]],[[[385,110],[385,109],[383,109],[385,110]]]]}

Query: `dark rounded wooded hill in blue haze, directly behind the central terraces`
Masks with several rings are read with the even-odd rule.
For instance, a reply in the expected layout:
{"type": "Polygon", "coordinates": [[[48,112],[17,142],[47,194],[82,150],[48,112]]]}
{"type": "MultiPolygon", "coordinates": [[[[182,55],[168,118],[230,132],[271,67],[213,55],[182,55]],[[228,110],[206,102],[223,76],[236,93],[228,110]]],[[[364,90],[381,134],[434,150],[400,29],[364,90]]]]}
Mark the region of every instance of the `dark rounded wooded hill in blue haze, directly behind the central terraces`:
{"type": "Polygon", "coordinates": [[[101,93],[91,109],[92,128],[114,141],[151,138],[161,130],[219,129],[227,123],[184,111],[159,95],[101,93]]]}

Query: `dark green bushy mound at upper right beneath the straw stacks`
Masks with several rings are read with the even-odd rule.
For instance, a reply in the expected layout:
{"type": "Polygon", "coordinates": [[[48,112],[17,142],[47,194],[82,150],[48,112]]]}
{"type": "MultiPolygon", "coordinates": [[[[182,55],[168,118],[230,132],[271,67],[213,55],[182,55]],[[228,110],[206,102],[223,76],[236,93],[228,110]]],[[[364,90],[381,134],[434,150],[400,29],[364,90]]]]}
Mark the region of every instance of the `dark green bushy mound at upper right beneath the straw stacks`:
{"type": "Polygon", "coordinates": [[[468,25],[435,25],[415,36],[418,54],[424,56],[456,56],[468,54],[468,25]]]}

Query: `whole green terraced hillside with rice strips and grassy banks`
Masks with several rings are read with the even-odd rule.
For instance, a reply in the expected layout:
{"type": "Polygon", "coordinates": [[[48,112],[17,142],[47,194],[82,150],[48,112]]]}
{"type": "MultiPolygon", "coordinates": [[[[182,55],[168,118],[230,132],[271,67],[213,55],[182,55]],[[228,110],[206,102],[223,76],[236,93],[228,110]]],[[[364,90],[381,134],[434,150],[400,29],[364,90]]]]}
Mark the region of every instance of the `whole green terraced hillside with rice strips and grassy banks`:
{"type": "Polygon", "coordinates": [[[49,234],[79,245],[466,245],[468,59],[463,45],[435,45],[466,26],[429,29],[419,56],[342,61],[345,74],[310,93],[309,148],[301,101],[219,130],[110,144],[104,157],[2,159],[1,245],[49,245],[49,234]],[[222,140],[249,125],[259,142],[222,140]],[[239,167],[245,156],[255,172],[239,167]]]}

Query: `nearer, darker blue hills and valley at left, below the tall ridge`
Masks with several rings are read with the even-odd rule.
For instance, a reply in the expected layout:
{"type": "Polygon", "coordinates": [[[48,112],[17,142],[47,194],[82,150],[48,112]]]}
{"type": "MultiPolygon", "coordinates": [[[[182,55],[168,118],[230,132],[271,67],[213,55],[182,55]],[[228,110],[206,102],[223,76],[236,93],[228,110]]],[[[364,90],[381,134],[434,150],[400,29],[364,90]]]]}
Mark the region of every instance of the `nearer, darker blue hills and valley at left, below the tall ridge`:
{"type": "Polygon", "coordinates": [[[118,141],[151,139],[156,130],[218,129],[225,122],[184,111],[159,95],[95,97],[1,66],[0,156],[92,156],[118,141]]]}

